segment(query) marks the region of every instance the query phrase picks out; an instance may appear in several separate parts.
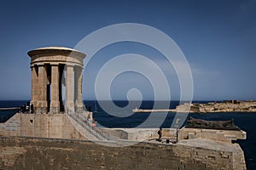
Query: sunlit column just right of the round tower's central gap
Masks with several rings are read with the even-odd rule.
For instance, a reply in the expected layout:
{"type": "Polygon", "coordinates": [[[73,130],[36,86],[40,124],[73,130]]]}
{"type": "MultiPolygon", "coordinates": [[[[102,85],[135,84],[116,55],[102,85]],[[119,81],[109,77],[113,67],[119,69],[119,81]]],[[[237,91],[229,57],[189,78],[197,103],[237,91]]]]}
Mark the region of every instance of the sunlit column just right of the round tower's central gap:
{"type": "Polygon", "coordinates": [[[66,111],[74,111],[74,72],[73,65],[66,66],[66,98],[65,109],[66,111]]]}

